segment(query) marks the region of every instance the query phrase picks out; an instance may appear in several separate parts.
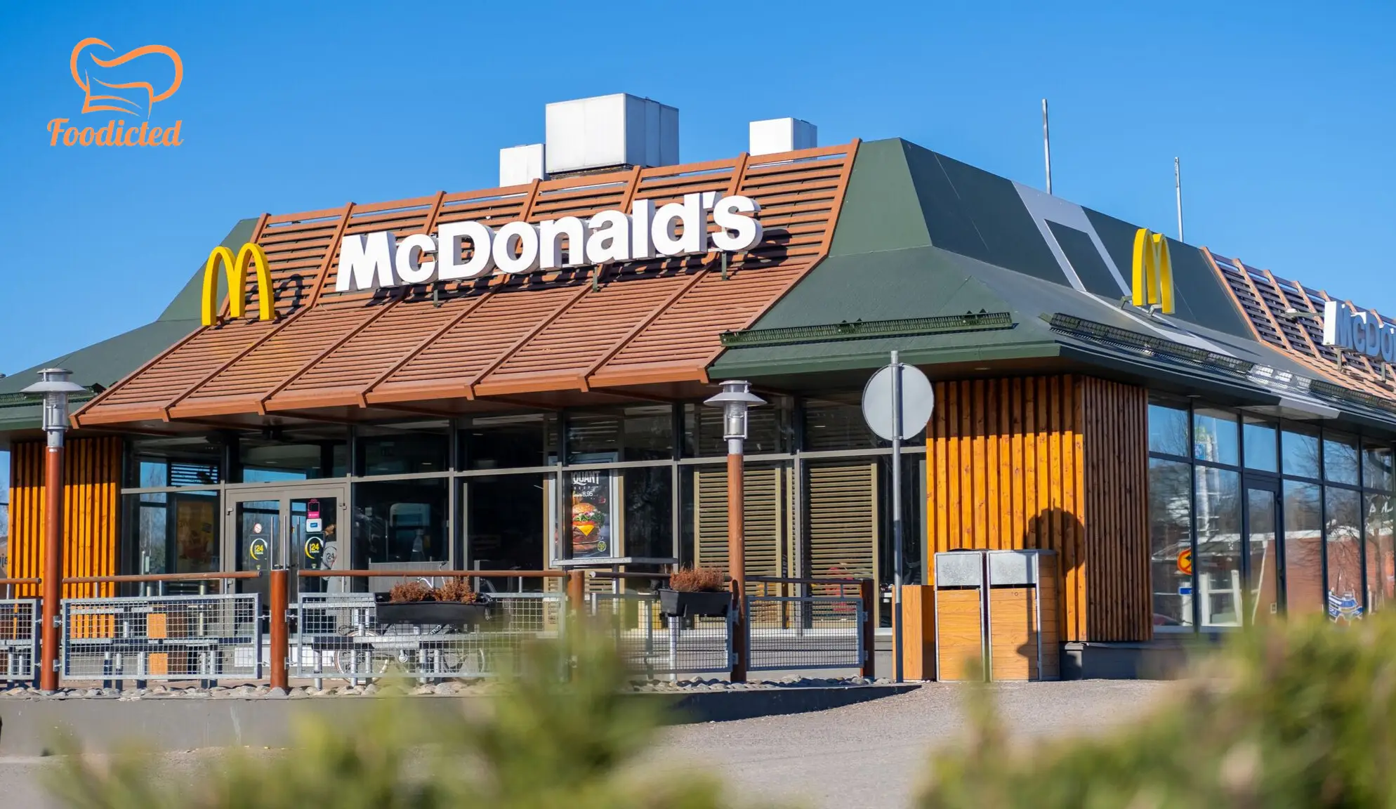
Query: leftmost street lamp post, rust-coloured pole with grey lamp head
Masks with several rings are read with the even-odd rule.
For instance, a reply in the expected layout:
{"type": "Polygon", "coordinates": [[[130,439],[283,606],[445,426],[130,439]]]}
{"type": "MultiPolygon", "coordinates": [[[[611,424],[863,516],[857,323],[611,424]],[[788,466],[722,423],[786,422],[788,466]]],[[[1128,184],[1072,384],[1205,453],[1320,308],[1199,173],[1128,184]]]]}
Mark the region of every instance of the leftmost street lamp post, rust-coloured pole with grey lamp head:
{"type": "Polygon", "coordinates": [[[49,437],[43,460],[43,623],[40,626],[39,689],[59,689],[59,601],[63,598],[63,433],[68,429],[68,394],[80,384],[71,372],[46,367],[39,381],[22,393],[43,394],[43,432],[49,437]]]}

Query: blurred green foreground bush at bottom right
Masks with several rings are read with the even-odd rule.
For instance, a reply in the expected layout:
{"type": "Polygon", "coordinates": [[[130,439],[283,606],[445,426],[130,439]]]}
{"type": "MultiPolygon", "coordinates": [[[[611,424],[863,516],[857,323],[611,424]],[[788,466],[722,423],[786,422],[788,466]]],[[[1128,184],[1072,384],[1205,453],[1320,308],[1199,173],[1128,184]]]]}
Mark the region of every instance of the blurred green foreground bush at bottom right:
{"type": "Polygon", "coordinates": [[[1149,720],[1016,746],[986,693],[923,808],[1396,806],[1396,618],[1234,639],[1149,720]]]}

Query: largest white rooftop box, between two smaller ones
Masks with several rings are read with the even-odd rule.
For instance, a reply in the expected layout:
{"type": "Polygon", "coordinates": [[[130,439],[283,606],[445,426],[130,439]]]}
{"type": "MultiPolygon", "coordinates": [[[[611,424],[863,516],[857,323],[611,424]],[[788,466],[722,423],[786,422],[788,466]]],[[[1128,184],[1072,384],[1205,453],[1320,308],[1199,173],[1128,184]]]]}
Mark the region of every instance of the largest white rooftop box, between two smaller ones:
{"type": "Polygon", "coordinates": [[[549,175],[678,162],[678,110],[627,92],[547,105],[549,175]]]}

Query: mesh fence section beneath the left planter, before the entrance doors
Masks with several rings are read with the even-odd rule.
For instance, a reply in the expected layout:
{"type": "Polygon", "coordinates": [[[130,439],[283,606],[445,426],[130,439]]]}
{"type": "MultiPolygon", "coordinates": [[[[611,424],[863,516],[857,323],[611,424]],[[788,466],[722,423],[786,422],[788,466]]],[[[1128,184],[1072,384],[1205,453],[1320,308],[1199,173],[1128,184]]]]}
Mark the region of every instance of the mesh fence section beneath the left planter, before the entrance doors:
{"type": "Polygon", "coordinates": [[[567,615],[560,592],[498,592],[477,611],[430,613],[443,606],[470,605],[388,605],[374,604],[369,592],[303,592],[295,606],[290,673],[317,679],[494,676],[521,665],[529,641],[558,637],[567,615]],[[395,609],[412,606],[426,611],[395,609]]]}

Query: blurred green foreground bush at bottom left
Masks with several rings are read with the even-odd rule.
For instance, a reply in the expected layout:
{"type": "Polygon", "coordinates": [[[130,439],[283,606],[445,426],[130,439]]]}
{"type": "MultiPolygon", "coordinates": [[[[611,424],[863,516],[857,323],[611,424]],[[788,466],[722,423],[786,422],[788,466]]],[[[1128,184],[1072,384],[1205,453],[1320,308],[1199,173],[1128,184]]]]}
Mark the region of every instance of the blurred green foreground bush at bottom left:
{"type": "Polygon", "coordinates": [[[539,644],[480,715],[458,714],[454,700],[380,700],[364,727],[311,724],[289,750],[232,750],[193,788],[133,753],[110,766],[73,756],[52,789],[81,809],[726,806],[713,781],[627,767],[660,717],[624,682],[606,646],[539,644]],[[578,676],[567,682],[571,654],[578,676]]]}

